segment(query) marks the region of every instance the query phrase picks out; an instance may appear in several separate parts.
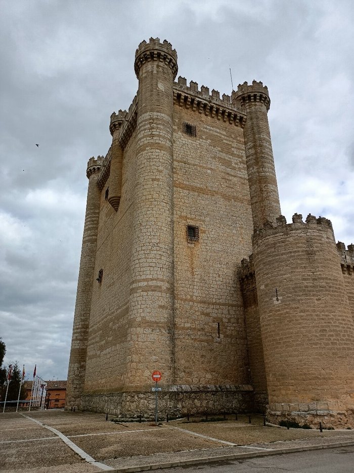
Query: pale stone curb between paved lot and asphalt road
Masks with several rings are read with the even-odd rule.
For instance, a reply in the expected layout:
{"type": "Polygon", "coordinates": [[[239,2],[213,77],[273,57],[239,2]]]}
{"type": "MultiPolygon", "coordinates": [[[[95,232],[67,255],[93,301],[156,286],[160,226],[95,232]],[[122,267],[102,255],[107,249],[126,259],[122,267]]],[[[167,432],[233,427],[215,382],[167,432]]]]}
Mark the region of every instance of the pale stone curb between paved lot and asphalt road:
{"type": "Polygon", "coordinates": [[[164,463],[154,463],[150,465],[140,465],[140,466],[129,466],[122,468],[112,468],[111,473],[136,473],[137,471],[149,471],[156,470],[161,468],[171,468],[173,466],[186,466],[186,465],[196,465],[203,463],[213,463],[217,461],[230,461],[243,458],[254,458],[254,457],[264,457],[268,455],[281,455],[285,453],[293,452],[304,452],[306,450],[321,450],[323,448],[337,448],[337,447],[349,447],[354,445],[354,441],[348,442],[334,442],[331,444],[320,444],[320,445],[306,445],[304,447],[289,447],[283,449],[273,449],[273,450],[262,450],[261,452],[245,452],[245,453],[235,453],[228,455],[218,455],[215,457],[202,457],[202,458],[193,458],[191,460],[174,460],[164,463]]]}

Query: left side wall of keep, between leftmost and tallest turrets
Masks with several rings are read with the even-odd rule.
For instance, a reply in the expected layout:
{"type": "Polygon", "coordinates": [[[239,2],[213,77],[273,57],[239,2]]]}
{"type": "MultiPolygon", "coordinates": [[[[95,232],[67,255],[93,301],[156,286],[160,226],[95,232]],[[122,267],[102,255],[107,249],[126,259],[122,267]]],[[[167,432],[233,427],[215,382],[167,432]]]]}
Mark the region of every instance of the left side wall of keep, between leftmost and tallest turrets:
{"type": "Polygon", "coordinates": [[[131,233],[136,185],[136,137],[124,149],[122,192],[118,211],[105,199],[108,178],[101,192],[95,280],[91,304],[89,345],[84,392],[124,389],[129,357],[127,326],[131,280],[131,233]],[[96,281],[103,269],[103,279],[96,281]]]}

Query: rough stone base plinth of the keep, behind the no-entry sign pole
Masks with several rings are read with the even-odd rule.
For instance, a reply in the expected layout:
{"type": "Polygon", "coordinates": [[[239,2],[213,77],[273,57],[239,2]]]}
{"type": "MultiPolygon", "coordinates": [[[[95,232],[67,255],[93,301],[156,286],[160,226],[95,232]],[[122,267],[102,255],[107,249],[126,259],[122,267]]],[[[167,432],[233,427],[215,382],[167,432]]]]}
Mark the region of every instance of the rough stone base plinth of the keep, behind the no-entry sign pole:
{"type": "MultiPolygon", "coordinates": [[[[84,393],[81,410],[108,412],[123,418],[153,418],[155,393],[112,392],[102,394],[84,393]]],[[[159,417],[181,417],[187,414],[222,414],[253,412],[253,389],[242,385],[172,385],[158,392],[159,417]]]]}

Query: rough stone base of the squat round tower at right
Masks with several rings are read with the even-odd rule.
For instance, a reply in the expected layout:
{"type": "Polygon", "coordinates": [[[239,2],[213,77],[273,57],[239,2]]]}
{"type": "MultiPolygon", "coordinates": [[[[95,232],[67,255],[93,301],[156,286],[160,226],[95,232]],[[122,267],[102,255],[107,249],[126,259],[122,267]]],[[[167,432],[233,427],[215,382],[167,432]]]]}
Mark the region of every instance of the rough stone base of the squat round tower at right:
{"type": "Polygon", "coordinates": [[[279,424],[282,420],[324,429],[354,428],[354,410],[343,409],[335,402],[273,403],[267,406],[267,420],[279,424]]]}

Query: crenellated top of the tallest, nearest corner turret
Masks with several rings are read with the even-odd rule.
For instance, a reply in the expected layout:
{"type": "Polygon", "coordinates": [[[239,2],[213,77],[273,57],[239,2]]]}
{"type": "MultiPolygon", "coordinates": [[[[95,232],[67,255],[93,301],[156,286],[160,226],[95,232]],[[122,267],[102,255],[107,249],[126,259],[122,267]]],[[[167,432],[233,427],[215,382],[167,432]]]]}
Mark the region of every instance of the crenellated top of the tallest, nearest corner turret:
{"type": "Polygon", "coordinates": [[[134,63],[134,70],[138,78],[142,65],[150,61],[164,62],[172,70],[173,79],[177,75],[177,53],[168,41],[164,40],[160,43],[159,38],[150,38],[149,43],[145,40],[140,43],[135,53],[134,63]]]}

